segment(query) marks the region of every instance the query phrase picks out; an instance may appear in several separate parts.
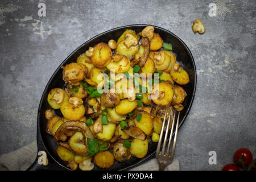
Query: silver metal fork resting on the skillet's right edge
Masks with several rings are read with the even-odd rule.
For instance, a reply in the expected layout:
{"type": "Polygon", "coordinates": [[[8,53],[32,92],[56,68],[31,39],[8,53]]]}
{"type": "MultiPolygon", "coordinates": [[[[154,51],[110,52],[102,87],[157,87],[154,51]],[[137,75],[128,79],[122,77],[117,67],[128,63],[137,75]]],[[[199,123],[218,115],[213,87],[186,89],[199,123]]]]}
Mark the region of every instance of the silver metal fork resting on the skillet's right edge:
{"type": "Polygon", "coordinates": [[[156,148],[156,154],[155,154],[155,157],[156,157],[156,159],[158,160],[158,163],[159,163],[159,171],[163,171],[164,168],[166,168],[166,166],[168,166],[168,164],[171,164],[172,160],[174,159],[176,139],[177,139],[177,130],[178,130],[178,127],[179,127],[179,119],[180,119],[180,112],[179,112],[178,116],[177,116],[177,121],[176,121],[174,144],[172,146],[172,151],[170,152],[172,135],[174,133],[176,111],[174,111],[174,118],[172,119],[171,133],[170,133],[170,137],[169,137],[168,147],[167,147],[167,150],[166,150],[167,135],[168,135],[169,125],[170,125],[170,121],[171,121],[171,112],[170,112],[170,115],[168,117],[167,127],[166,127],[166,134],[164,136],[162,151],[160,151],[161,143],[162,143],[162,139],[163,139],[164,126],[165,126],[165,122],[166,122],[166,114],[167,114],[167,111],[164,114],[163,126],[162,126],[162,130],[161,130],[160,137],[159,137],[159,142],[158,142],[158,147],[156,148]]]}

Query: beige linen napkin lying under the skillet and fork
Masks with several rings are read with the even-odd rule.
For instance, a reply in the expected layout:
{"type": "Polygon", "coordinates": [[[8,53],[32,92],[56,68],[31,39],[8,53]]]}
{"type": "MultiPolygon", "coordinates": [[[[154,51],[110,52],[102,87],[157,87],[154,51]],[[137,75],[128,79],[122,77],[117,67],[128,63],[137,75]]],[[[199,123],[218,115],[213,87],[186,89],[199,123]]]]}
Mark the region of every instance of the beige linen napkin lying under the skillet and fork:
{"type": "MultiPolygon", "coordinates": [[[[13,152],[0,156],[0,170],[24,171],[34,162],[38,152],[36,141],[19,148],[13,152]]],[[[138,167],[130,169],[131,171],[158,171],[159,164],[157,160],[150,159],[138,167]]],[[[179,161],[174,161],[166,167],[166,171],[179,171],[179,161]]]]}

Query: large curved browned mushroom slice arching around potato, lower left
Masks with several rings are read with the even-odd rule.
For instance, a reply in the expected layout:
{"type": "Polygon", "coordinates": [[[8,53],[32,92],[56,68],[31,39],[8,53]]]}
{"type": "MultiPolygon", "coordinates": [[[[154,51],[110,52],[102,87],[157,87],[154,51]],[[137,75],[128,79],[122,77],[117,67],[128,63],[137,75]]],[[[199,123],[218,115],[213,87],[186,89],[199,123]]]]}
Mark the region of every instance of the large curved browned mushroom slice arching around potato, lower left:
{"type": "MultiPolygon", "coordinates": [[[[86,138],[94,139],[94,135],[92,134],[92,131],[90,131],[89,127],[86,125],[85,122],[67,121],[67,122],[63,123],[59,127],[59,129],[57,129],[57,131],[54,135],[54,140],[57,144],[67,148],[68,150],[73,151],[72,148],[69,146],[69,143],[68,142],[60,142],[60,135],[63,134],[67,130],[80,131],[86,138]]],[[[84,145],[87,147],[87,139],[84,140],[84,145]]],[[[85,150],[84,152],[82,152],[82,154],[79,154],[79,155],[88,155],[87,150],[85,150]]]]}

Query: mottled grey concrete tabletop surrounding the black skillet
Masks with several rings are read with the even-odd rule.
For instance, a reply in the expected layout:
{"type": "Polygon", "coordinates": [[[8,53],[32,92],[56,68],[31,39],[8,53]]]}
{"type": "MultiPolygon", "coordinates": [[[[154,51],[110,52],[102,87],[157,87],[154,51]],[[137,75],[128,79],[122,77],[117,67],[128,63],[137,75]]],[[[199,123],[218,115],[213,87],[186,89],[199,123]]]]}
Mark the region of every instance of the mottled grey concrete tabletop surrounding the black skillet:
{"type": "Polygon", "coordinates": [[[0,154],[36,139],[43,90],[69,53],[111,28],[145,23],[179,36],[196,62],[196,97],[177,139],[180,169],[219,170],[240,147],[255,158],[255,9],[254,0],[1,1],[0,154]],[[212,2],[216,17],[208,15],[212,2]],[[192,32],[196,18],[203,35],[192,32]],[[216,165],[208,163],[212,150],[216,165]]]}

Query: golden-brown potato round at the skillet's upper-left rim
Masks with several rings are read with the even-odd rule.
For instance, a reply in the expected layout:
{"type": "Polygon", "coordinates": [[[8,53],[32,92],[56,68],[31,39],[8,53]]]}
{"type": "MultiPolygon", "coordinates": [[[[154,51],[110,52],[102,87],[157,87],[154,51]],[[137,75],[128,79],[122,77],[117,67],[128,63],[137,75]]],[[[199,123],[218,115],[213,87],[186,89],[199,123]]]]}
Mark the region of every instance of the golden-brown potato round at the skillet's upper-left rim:
{"type": "Polygon", "coordinates": [[[78,82],[86,76],[87,68],[81,63],[69,63],[63,68],[63,80],[67,83],[78,82]]]}

